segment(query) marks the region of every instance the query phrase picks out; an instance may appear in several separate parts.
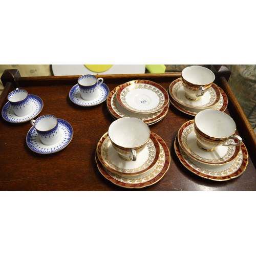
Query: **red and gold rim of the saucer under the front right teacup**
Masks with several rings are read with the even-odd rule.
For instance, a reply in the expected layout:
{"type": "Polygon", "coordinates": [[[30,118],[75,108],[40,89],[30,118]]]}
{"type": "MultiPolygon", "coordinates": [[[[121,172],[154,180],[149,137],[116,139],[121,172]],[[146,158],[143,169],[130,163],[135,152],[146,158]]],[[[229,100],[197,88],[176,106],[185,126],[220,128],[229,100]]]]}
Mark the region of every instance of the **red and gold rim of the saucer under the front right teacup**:
{"type": "MultiPolygon", "coordinates": [[[[178,138],[178,142],[179,142],[179,145],[181,146],[182,150],[191,158],[193,158],[194,160],[200,162],[200,163],[204,163],[204,164],[209,164],[209,165],[223,165],[223,164],[226,164],[226,163],[229,163],[231,161],[233,161],[239,154],[240,152],[240,145],[236,145],[236,149],[234,151],[234,154],[227,160],[223,161],[223,162],[206,162],[202,159],[198,159],[197,157],[191,155],[191,153],[187,150],[187,148],[183,145],[182,143],[182,139],[181,139],[181,136],[182,136],[182,133],[183,131],[190,125],[194,125],[195,124],[195,120],[189,120],[185,123],[183,123],[178,131],[178,134],[177,134],[177,138],[178,138]],[[183,130],[183,131],[182,131],[183,130]]],[[[209,152],[210,153],[210,152],[209,152]]]]}

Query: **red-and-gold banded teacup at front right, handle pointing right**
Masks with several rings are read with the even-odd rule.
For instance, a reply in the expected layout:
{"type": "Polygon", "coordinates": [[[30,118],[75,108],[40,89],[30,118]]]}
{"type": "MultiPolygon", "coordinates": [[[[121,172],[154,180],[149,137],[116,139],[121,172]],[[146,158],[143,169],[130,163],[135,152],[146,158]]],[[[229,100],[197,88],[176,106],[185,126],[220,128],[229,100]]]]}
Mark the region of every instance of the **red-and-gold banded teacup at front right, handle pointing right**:
{"type": "Polygon", "coordinates": [[[236,133],[236,123],[219,110],[203,110],[195,117],[195,134],[202,150],[214,151],[218,146],[240,145],[242,138],[236,133]],[[234,139],[238,141],[235,142],[234,139]]]}

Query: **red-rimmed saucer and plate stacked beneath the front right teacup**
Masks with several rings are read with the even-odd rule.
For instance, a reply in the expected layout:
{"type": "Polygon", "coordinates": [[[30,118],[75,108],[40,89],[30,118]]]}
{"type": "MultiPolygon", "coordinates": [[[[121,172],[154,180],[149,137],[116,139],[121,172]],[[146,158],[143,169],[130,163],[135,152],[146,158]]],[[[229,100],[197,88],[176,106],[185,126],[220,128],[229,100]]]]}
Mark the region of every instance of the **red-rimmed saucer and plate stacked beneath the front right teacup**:
{"type": "Polygon", "coordinates": [[[181,163],[194,174],[206,179],[225,181],[237,178],[248,164],[244,143],[239,146],[219,146],[210,152],[201,150],[197,145],[194,120],[180,127],[174,145],[181,163]]]}

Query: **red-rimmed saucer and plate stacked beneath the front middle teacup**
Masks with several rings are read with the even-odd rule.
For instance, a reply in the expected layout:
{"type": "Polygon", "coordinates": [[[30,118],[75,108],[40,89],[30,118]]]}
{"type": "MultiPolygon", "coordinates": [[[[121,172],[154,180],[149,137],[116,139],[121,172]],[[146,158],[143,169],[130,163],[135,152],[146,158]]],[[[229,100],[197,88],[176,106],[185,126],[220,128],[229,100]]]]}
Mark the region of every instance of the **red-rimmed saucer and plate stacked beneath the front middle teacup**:
{"type": "Polygon", "coordinates": [[[103,177],[126,188],[142,188],[155,184],[165,175],[170,165],[170,153],[166,143],[153,132],[136,161],[121,159],[114,150],[108,133],[105,133],[97,144],[95,159],[103,177]]]}

